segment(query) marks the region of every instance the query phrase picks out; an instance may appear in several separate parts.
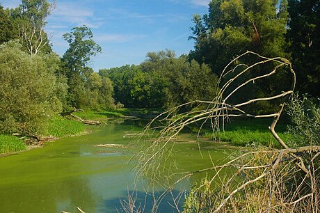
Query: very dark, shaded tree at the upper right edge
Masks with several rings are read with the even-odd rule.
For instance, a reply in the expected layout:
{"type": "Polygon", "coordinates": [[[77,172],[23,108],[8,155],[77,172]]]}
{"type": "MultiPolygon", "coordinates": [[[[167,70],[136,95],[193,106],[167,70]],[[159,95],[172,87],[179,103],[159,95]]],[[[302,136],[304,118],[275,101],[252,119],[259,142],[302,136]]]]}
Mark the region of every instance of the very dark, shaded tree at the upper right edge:
{"type": "Polygon", "coordinates": [[[289,0],[289,52],[297,72],[297,88],[320,97],[320,3],[289,0]]]}

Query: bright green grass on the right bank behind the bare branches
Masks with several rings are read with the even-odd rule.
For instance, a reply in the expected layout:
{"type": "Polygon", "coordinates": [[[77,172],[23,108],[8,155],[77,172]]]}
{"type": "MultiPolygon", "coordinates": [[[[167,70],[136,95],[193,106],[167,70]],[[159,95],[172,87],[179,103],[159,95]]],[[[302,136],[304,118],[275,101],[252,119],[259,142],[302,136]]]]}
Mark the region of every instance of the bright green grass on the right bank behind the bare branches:
{"type": "MultiPolygon", "coordinates": [[[[218,141],[227,141],[232,145],[266,145],[269,147],[280,148],[280,144],[276,141],[271,132],[269,132],[269,119],[248,119],[248,120],[235,120],[232,123],[225,123],[225,131],[218,132],[218,141]]],[[[291,135],[286,133],[287,125],[279,123],[275,127],[275,132],[278,133],[280,138],[284,141],[291,139],[291,135]]],[[[212,132],[205,132],[204,137],[214,139],[212,132]]]]}

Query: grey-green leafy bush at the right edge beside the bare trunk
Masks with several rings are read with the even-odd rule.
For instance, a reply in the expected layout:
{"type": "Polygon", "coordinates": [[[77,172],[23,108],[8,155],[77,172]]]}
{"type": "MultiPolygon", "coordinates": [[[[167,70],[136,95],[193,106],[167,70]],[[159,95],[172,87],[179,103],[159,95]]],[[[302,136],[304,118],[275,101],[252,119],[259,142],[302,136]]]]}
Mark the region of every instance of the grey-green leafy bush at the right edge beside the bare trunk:
{"type": "Polygon", "coordinates": [[[320,107],[307,99],[307,96],[291,98],[287,104],[287,113],[291,118],[288,127],[292,147],[320,145],[320,107]]]}

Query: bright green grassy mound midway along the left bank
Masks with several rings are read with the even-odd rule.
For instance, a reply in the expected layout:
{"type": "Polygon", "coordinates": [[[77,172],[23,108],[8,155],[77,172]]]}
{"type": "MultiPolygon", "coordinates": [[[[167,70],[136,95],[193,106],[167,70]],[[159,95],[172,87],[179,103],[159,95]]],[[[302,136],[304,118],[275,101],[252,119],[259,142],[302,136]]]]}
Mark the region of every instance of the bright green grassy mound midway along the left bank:
{"type": "Polygon", "coordinates": [[[49,124],[47,135],[62,137],[79,134],[84,129],[86,129],[86,126],[83,123],[56,116],[49,124]]]}

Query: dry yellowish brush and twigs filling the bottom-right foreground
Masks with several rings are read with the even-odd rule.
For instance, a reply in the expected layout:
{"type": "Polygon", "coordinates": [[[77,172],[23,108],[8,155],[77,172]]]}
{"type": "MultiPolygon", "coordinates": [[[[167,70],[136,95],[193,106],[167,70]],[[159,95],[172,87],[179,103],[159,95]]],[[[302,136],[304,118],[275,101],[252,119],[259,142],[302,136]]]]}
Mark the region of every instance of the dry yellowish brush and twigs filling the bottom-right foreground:
{"type": "Polygon", "coordinates": [[[184,212],[317,212],[317,152],[303,155],[310,163],[310,178],[288,150],[256,147],[238,152],[223,166],[198,171],[207,177],[186,196],[184,212]]]}

